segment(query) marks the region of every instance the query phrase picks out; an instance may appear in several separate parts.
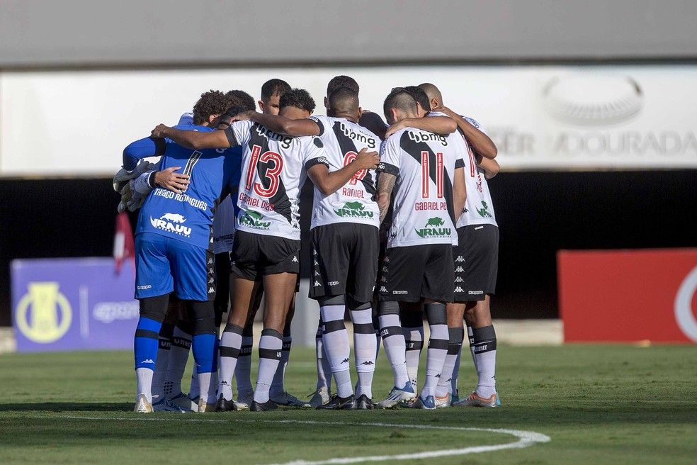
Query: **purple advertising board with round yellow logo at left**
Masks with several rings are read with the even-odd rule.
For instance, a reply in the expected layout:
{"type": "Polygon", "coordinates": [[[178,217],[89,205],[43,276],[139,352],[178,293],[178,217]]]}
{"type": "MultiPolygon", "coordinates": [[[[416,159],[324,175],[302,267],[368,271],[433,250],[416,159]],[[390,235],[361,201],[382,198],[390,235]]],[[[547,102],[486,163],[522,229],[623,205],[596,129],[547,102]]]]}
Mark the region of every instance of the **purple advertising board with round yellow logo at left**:
{"type": "Polygon", "coordinates": [[[17,352],[130,349],[138,323],[135,277],[112,258],[11,263],[17,352]]]}

